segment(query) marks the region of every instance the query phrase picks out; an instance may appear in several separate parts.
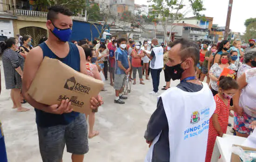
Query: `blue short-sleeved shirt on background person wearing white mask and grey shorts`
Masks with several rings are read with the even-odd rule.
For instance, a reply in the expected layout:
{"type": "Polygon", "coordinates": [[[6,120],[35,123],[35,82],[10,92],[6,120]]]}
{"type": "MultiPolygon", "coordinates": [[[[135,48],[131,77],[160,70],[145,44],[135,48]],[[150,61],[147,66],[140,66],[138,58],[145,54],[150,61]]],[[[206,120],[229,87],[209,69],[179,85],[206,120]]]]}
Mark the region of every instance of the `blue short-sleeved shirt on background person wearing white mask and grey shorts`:
{"type": "MultiPolygon", "coordinates": [[[[128,52],[126,50],[121,50],[120,48],[118,48],[116,51],[115,51],[115,59],[117,61],[120,61],[122,63],[122,66],[125,68],[125,69],[128,69],[129,68],[129,62],[128,62],[128,52]]],[[[120,69],[118,67],[118,64],[116,62],[116,66],[115,66],[115,74],[117,75],[122,75],[122,74],[125,74],[125,71],[123,71],[122,69],[120,69]]]]}

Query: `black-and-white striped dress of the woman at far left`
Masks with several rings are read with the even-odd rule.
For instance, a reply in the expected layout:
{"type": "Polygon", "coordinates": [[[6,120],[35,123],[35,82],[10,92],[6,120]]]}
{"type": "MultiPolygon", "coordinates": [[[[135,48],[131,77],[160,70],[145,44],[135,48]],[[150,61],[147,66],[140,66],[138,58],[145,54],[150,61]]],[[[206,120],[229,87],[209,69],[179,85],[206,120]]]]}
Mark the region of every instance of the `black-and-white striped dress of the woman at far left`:
{"type": "Polygon", "coordinates": [[[22,80],[19,73],[15,69],[20,67],[23,70],[25,58],[12,49],[6,49],[3,52],[2,61],[6,89],[20,89],[22,87],[22,80]]]}

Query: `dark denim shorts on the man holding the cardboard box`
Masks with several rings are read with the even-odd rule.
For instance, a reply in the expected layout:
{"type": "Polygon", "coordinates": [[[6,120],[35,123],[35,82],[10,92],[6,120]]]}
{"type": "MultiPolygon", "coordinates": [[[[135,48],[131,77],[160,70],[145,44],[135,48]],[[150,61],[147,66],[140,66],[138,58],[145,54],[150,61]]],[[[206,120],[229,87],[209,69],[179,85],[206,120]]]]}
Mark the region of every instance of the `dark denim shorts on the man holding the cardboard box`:
{"type": "Polygon", "coordinates": [[[84,114],[68,125],[37,126],[40,154],[43,162],[61,162],[65,144],[67,152],[84,155],[88,152],[88,129],[84,114]]]}

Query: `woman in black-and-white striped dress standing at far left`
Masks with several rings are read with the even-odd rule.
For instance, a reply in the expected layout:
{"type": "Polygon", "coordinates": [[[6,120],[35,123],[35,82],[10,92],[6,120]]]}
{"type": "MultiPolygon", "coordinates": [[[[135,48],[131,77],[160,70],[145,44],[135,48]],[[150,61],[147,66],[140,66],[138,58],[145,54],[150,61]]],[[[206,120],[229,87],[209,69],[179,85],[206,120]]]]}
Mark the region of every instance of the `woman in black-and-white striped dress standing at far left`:
{"type": "Polygon", "coordinates": [[[2,50],[6,89],[11,89],[13,108],[17,108],[18,112],[26,112],[29,109],[22,107],[20,103],[24,57],[19,56],[15,52],[18,50],[18,40],[13,37],[7,39],[5,42],[0,42],[0,49],[2,50]]]}

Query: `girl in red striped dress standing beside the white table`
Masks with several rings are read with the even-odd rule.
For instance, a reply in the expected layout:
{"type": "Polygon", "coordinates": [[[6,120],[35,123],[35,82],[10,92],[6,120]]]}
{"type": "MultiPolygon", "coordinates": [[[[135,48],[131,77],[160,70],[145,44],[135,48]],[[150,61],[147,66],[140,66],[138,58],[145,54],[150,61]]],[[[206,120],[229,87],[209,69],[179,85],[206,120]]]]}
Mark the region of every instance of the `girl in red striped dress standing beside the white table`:
{"type": "Polygon", "coordinates": [[[214,96],[216,110],[209,119],[209,135],[205,162],[210,162],[216,137],[222,137],[227,132],[229,124],[230,100],[235,95],[239,86],[231,77],[221,76],[219,79],[219,91],[214,96]]]}

